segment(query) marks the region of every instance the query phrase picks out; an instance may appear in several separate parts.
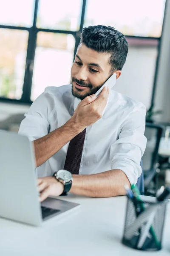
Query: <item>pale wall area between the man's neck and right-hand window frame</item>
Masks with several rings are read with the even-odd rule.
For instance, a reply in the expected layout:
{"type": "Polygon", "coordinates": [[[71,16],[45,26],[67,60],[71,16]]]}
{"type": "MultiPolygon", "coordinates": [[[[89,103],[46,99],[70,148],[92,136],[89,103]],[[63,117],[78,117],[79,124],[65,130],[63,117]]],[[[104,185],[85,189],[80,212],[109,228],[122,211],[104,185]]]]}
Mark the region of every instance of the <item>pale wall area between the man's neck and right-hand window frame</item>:
{"type": "Polygon", "coordinates": [[[122,75],[114,89],[150,107],[157,45],[130,46],[122,75]]]}

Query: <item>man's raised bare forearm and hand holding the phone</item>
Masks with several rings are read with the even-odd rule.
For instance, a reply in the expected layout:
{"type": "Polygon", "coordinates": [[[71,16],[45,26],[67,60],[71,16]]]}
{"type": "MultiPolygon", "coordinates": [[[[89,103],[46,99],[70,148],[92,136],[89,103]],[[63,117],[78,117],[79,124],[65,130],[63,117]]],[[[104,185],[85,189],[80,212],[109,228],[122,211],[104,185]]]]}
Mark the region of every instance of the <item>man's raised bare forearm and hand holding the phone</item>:
{"type": "Polygon", "coordinates": [[[86,97],[79,103],[74,115],[68,122],[44,137],[34,140],[37,167],[45,163],[87,126],[94,124],[102,117],[108,94],[109,90],[105,87],[97,99],[96,95],[86,97]]]}

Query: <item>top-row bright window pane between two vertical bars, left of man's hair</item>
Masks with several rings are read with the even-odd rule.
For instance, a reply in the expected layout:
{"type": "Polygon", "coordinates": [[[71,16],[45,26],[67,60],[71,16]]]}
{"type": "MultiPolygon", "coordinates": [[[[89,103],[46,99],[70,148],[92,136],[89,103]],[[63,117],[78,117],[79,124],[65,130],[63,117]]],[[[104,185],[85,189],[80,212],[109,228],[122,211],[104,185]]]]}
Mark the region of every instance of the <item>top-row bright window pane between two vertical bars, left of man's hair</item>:
{"type": "Polygon", "coordinates": [[[45,29],[79,29],[82,0],[40,0],[37,27],[45,29]]]}

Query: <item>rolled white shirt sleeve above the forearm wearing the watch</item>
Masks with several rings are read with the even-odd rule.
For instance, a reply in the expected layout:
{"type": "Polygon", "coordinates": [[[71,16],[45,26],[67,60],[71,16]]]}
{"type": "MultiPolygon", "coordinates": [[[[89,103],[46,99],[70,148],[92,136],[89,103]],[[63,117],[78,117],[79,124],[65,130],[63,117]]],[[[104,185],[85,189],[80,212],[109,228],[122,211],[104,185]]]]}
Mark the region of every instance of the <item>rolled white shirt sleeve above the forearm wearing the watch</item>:
{"type": "Polygon", "coordinates": [[[142,173],[140,161],[147,143],[144,136],[145,116],[146,108],[140,103],[126,118],[118,140],[111,145],[111,169],[125,172],[130,184],[136,184],[142,173]]]}

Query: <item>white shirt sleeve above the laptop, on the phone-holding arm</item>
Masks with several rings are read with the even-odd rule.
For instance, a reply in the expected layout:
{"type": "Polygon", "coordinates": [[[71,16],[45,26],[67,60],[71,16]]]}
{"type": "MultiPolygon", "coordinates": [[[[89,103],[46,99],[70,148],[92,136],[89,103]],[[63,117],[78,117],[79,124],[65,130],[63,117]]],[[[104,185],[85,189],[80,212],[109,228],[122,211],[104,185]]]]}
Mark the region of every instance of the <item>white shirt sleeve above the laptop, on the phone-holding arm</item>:
{"type": "Polygon", "coordinates": [[[54,110],[53,101],[50,93],[42,93],[25,114],[26,118],[21,122],[18,133],[27,136],[31,141],[48,134],[54,110]]]}

